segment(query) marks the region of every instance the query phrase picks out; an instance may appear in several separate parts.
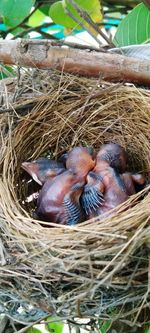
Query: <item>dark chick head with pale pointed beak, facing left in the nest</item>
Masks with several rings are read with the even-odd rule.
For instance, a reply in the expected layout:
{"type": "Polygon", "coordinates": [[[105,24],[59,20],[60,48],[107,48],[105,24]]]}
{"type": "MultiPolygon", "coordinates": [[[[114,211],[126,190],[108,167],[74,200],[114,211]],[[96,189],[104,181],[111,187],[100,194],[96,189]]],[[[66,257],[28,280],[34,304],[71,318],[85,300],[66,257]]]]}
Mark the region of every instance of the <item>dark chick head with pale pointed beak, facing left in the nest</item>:
{"type": "Polygon", "coordinates": [[[44,157],[38,158],[33,162],[23,162],[21,167],[39,185],[43,185],[48,177],[53,179],[66,170],[63,163],[44,157]]]}

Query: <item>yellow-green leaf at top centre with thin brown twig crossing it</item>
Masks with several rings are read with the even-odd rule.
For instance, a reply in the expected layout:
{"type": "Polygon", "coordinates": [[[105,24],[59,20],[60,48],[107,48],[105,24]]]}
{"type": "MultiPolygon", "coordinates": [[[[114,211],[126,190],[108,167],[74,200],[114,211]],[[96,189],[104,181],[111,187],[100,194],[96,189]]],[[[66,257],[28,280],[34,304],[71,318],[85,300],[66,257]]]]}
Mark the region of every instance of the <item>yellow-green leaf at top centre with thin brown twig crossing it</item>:
{"type": "MultiPolygon", "coordinates": [[[[76,3],[81,7],[81,9],[85,10],[95,22],[101,22],[102,13],[101,13],[101,6],[100,6],[99,0],[93,0],[93,1],[76,0],[76,3]]],[[[80,25],[78,25],[66,13],[67,10],[70,11],[71,14],[76,19],[78,19],[79,21],[82,21],[82,23],[87,25],[87,23],[82,18],[80,18],[77,11],[70,4],[69,0],[63,0],[63,1],[55,2],[50,7],[49,15],[52,18],[52,20],[57,24],[61,24],[66,28],[76,28],[78,30],[81,30],[82,27],[80,25]]]]}

